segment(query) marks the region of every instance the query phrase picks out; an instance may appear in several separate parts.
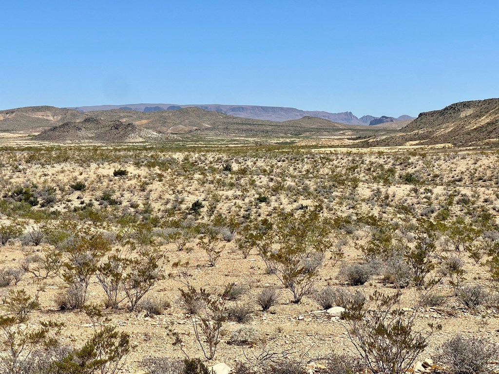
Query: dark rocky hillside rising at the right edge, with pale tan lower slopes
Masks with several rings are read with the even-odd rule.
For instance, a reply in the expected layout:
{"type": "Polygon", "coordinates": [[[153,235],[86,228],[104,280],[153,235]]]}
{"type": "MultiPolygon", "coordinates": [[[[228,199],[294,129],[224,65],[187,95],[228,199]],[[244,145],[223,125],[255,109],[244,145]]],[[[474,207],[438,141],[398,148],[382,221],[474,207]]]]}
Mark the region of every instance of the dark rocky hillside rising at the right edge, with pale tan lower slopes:
{"type": "Polygon", "coordinates": [[[499,142],[499,99],[463,101],[421,113],[397,135],[371,139],[364,147],[435,145],[473,146],[499,142]]]}

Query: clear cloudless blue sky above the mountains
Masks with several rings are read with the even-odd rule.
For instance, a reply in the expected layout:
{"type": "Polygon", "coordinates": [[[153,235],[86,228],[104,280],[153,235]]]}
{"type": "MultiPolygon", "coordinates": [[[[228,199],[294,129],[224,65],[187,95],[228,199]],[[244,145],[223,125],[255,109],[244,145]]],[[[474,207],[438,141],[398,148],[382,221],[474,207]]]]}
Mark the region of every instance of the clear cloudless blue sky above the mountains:
{"type": "Polygon", "coordinates": [[[289,106],[357,116],[499,97],[499,1],[0,6],[0,109],[289,106]]]}

